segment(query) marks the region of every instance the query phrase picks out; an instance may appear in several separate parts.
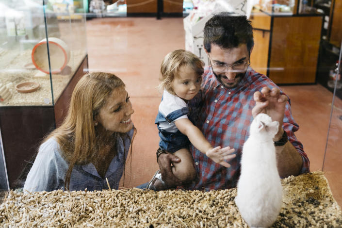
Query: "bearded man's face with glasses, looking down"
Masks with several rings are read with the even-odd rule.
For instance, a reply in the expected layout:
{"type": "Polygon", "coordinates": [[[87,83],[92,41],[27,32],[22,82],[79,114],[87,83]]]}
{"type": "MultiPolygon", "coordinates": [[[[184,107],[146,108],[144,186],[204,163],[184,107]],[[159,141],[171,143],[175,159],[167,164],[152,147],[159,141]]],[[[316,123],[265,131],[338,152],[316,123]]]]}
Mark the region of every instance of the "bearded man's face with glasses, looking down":
{"type": "Polygon", "coordinates": [[[222,49],[221,47],[212,44],[209,56],[212,64],[212,71],[217,80],[226,88],[236,87],[244,77],[248,66],[247,64],[244,64],[249,62],[247,46],[241,44],[237,48],[222,49]],[[222,68],[222,65],[229,65],[229,67],[228,69],[227,67],[223,67],[223,70],[219,70],[218,68],[222,68]],[[231,65],[235,66],[231,67],[231,65]]]}

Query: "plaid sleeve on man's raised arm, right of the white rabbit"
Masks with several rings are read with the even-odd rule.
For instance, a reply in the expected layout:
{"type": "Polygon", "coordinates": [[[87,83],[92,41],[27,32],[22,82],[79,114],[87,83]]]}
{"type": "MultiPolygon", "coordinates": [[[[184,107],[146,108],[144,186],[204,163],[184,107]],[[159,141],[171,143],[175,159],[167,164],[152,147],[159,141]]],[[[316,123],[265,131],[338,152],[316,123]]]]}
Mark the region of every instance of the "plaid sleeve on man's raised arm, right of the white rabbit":
{"type": "Polygon", "coordinates": [[[291,114],[290,99],[285,107],[285,115],[283,120],[283,128],[288,135],[290,143],[296,148],[297,152],[302,156],[303,165],[299,174],[310,172],[310,161],[308,155],[304,152],[303,144],[296,138],[294,132],[299,129],[298,124],[294,121],[291,114]]]}

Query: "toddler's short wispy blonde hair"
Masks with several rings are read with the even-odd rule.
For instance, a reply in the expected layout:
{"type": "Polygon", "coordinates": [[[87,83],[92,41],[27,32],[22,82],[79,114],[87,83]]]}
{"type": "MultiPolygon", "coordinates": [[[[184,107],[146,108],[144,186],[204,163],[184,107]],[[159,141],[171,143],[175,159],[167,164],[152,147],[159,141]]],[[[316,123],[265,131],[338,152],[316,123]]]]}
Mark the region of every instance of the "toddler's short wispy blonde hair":
{"type": "Polygon", "coordinates": [[[204,63],[190,51],[178,49],[168,53],[161,65],[161,77],[158,88],[175,94],[172,89],[172,81],[179,75],[181,66],[190,65],[198,76],[203,74],[204,63]]]}

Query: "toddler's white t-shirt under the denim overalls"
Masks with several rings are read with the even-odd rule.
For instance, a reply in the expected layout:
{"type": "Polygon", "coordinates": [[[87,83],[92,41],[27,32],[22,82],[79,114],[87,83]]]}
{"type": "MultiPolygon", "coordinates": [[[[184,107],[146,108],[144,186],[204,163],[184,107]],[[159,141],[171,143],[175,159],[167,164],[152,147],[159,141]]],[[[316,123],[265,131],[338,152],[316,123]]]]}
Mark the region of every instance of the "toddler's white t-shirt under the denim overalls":
{"type": "MultiPolygon", "coordinates": [[[[164,90],[163,93],[163,100],[159,104],[159,112],[163,114],[163,116],[167,116],[168,114],[172,113],[173,111],[182,109],[184,107],[187,107],[187,104],[182,98],[179,98],[175,95],[170,94],[166,90],[164,90]]],[[[171,123],[164,121],[159,123],[159,127],[163,130],[166,130],[168,132],[176,132],[178,129],[175,125],[175,121],[182,119],[182,118],[187,118],[188,115],[182,115],[179,118],[175,119],[171,123]]]]}

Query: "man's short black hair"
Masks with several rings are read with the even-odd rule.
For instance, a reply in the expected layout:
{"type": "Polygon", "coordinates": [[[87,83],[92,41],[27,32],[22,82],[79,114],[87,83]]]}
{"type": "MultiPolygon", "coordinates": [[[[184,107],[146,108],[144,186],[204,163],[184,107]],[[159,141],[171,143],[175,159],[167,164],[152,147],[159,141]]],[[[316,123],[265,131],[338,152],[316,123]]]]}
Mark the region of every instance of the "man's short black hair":
{"type": "Polygon", "coordinates": [[[246,44],[248,52],[254,46],[253,28],[246,16],[221,12],[210,18],[204,26],[204,48],[210,53],[211,44],[232,49],[246,44]]]}

